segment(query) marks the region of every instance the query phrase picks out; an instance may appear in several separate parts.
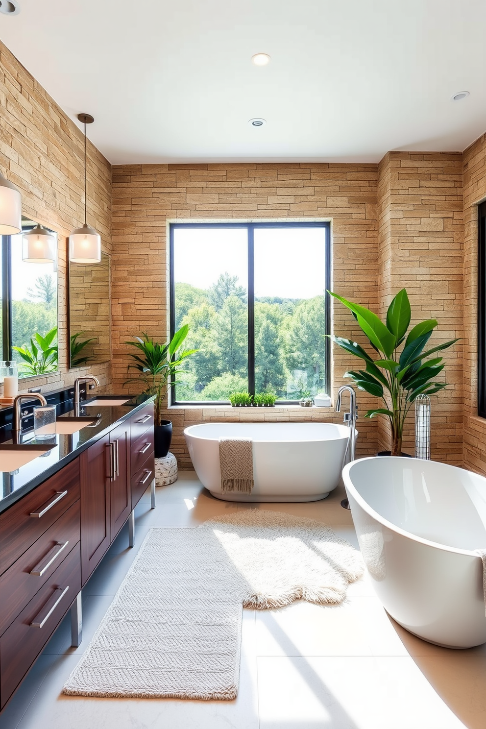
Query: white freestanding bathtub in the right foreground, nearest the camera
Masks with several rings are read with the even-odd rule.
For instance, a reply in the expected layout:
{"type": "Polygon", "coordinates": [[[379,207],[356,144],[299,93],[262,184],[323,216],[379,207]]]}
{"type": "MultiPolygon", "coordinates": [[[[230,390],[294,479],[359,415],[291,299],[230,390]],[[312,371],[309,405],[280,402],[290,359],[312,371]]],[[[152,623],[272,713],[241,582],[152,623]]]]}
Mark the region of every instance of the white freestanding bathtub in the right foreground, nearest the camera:
{"type": "Polygon", "coordinates": [[[397,623],[428,642],[486,642],[486,478],[434,461],[368,458],[342,477],[364,561],[397,623]]]}

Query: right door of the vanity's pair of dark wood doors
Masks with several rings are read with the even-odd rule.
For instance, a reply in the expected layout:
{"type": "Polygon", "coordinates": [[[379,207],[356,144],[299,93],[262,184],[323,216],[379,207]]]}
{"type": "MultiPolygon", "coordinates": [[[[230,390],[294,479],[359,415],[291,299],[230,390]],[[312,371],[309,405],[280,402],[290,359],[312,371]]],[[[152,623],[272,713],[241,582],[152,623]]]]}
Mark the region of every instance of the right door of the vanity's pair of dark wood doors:
{"type": "Polygon", "coordinates": [[[130,424],[122,423],[110,433],[113,452],[111,492],[111,541],[117,536],[130,516],[130,424]]]}

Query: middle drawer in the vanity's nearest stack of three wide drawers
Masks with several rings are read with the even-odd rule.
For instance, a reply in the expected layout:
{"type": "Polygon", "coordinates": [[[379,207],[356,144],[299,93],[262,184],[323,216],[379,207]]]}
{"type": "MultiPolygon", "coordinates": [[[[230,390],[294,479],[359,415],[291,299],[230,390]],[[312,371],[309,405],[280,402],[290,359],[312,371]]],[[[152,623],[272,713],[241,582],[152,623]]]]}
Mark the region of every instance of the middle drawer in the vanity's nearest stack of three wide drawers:
{"type": "Polygon", "coordinates": [[[0,577],[0,635],[79,542],[79,501],[0,577]]]}

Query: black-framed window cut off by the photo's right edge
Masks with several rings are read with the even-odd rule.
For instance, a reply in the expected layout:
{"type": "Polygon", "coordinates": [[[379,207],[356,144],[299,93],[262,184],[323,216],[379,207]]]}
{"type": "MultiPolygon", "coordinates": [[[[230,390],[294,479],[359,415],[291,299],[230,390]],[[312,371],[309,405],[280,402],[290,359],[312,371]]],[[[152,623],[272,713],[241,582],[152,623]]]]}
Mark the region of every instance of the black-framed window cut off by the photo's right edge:
{"type": "Polygon", "coordinates": [[[478,206],[477,414],[486,418],[486,201],[478,206]]]}

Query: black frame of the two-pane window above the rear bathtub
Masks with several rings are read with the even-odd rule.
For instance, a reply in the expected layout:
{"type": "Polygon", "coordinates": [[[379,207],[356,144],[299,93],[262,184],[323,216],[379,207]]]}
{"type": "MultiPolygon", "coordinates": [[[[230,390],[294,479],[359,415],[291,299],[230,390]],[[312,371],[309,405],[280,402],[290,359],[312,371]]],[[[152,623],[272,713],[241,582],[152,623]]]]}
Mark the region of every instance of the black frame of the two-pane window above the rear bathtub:
{"type": "MultiPolygon", "coordinates": [[[[195,222],[169,223],[169,316],[171,339],[176,326],[176,281],[174,272],[174,230],[179,228],[246,228],[248,230],[248,392],[255,392],[255,302],[254,302],[254,230],[256,228],[313,228],[320,227],[325,233],[324,301],[326,306],[326,332],[331,334],[331,222],[326,221],[281,221],[281,222],[195,222]]],[[[296,273],[296,276],[299,275],[296,273]]],[[[325,356],[326,387],[331,383],[331,346],[326,347],[325,356]]],[[[176,387],[171,386],[169,405],[183,405],[187,408],[201,405],[229,405],[230,400],[176,400],[176,387]]],[[[277,400],[277,405],[296,405],[297,400],[277,400]]]]}

